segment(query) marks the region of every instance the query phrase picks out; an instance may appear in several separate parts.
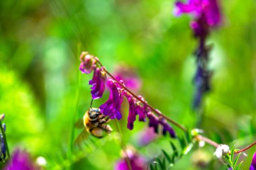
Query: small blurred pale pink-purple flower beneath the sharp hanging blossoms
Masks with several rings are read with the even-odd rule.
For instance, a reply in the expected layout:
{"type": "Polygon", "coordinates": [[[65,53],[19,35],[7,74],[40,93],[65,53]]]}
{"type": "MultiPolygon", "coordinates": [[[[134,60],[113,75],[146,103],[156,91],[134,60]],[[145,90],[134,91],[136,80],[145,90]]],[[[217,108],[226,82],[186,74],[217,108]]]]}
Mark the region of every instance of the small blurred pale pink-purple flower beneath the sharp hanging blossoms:
{"type": "Polygon", "coordinates": [[[154,128],[146,127],[146,129],[143,129],[141,132],[139,132],[139,135],[137,136],[137,142],[139,146],[145,146],[152,142],[152,140],[154,140],[157,136],[158,134],[154,132],[154,128]]]}

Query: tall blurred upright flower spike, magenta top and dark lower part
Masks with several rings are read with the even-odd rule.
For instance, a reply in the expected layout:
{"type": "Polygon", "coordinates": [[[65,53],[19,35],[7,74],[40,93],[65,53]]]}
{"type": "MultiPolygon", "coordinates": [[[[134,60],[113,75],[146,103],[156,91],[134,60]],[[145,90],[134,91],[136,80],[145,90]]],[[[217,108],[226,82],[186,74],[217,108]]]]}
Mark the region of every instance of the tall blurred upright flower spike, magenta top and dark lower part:
{"type": "Polygon", "coordinates": [[[195,95],[193,108],[199,108],[203,94],[210,91],[210,77],[212,73],[207,69],[210,47],[205,40],[210,34],[210,28],[218,26],[221,22],[220,7],[217,0],[188,0],[187,3],[177,1],[174,15],[189,13],[194,16],[190,26],[195,38],[199,39],[195,50],[197,71],[194,77],[195,95]]]}

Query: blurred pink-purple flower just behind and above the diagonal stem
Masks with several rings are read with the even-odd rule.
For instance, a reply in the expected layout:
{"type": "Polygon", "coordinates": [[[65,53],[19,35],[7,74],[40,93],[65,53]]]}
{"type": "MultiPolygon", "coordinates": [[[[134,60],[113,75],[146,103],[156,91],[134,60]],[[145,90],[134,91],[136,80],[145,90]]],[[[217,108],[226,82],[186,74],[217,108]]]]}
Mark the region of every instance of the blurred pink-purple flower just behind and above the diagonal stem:
{"type": "Polygon", "coordinates": [[[127,65],[119,65],[113,75],[118,81],[123,80],[125,86],[133,91],[138,91],[141,88],[141,80],[137,77],[134,69],[127,65]]]}

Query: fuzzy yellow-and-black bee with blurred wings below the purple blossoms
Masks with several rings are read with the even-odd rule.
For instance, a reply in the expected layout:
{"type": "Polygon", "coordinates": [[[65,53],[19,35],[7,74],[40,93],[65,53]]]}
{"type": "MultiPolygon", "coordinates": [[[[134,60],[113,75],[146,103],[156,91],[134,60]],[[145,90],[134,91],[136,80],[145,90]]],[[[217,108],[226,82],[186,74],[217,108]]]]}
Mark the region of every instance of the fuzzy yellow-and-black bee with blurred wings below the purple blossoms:
{"type": "Polygon", "coordinates": [[[102,138],[104,133],[109,134],[112,132],[112,128],[108,124],[105,124],[108,121],[109,117],[100,113],[99,108],[90,108],[84,114],[83,120],[81,119],[75,123],[77,128],[84,126],[84,130],[75,139],[75,144],[79,145],[86,140],[88,134],[92,134],[92,136],[95,136],[96,138],[102,138]]]}

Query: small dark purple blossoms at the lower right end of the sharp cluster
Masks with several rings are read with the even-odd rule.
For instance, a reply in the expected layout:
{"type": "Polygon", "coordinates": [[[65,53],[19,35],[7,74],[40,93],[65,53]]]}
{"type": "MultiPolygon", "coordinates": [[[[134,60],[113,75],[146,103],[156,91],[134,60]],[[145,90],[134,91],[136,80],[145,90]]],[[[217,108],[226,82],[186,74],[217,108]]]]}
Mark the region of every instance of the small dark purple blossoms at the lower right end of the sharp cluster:
{"type": "Polygon", "coordinates": [[[162,134],[166,135],[166,132],[170,134],[172,138],[176,137],[176,134],[172,127],[164,120],[164,118],[158,118],[151,112],[148,112],[149,126],[154,128],[154,132],[158,133],[159,124],[162,125],[162,134]]]}

